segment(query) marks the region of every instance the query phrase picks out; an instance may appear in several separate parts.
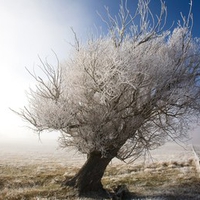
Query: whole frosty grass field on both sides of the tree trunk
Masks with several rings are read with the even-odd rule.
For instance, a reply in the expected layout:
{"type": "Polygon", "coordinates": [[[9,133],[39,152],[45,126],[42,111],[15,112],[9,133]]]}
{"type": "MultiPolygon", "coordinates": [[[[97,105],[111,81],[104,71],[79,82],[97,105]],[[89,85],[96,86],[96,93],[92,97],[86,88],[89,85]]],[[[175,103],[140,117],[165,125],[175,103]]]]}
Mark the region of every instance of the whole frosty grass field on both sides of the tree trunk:
{"type": "MultiPolygon", "coordinates": [[[[60,187],[64,176],[78,171],[84,156],[42,143],[4,143],[0,150],[0,199],[88,199],[60,187]]],[[[104,174],[104,187],[112,191],[126,185],[130,199],[200,199],[191,145],[169,143],[151,155],[131,164],[114,160],[104,174]]]]}

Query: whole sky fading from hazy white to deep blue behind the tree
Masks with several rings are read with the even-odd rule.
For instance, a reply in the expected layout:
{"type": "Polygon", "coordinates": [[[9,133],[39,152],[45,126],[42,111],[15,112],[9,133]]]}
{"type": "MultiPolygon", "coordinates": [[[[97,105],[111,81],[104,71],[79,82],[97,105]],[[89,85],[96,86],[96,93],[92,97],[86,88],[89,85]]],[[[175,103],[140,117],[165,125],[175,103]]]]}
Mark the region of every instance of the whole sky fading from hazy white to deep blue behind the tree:
{"type": "MultiPolygon", "coordinates": [[[[60,61],[69,55],[73,43],[71,27],[84,42],[94,25],[105,29],[96,11],[104,16],[104,5],[116,14],[120,0],[0,0],[0,140],[36,138],[17,115],[9,110],[26,105],[25,91],[34,84],[28,74],[40,64],[38,56],[54,63],[52,50],[60,61]]],[[[187,15],[190,0],[165,0],[168,23],[175,25],[180,12],[187,15]]],[[[128,0],[134,10],[136,0],[128,0]]],[[[160,0],[152,0],[158,12],[160,0]]],[[[200,37],[200,1],[193,0],[193,35],[200,37]]],[[[37,72],[37,71],[36,71],[37,72]]],[[[198,132],[198,131],[196,131],[198,132]]],[[[197,135],[197,134],[196,134],[197,135]]],[[[46,134],[54,138],[54,134],[46,134]]],[[[57,135],[56,135],[57,137],[57,135]]],[[[200,138],[200,136],[195,136],[200,138]]]]}

